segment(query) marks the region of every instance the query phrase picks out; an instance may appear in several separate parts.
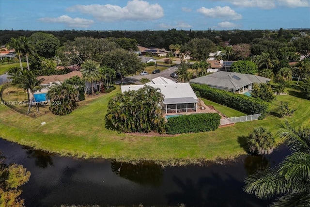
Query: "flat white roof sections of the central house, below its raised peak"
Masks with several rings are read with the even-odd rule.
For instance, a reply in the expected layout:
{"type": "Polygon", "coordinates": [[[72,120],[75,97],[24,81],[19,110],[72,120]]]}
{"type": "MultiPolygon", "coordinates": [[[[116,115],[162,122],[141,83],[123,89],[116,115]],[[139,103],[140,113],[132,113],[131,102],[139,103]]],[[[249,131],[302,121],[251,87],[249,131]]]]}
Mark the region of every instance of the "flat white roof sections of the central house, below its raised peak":
{"type": "MultiPolygon", "coordinates": [[[[122,85],[122,93],[130,90],[139,90],[144,85],[122,85]]],[[[188,98],[198,99],[189,83],[170,83],[170,84],[152,84],[154,88],[159,88],[164,95],[164,99],[168,98],[188,98]]]]}

